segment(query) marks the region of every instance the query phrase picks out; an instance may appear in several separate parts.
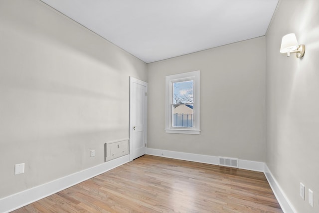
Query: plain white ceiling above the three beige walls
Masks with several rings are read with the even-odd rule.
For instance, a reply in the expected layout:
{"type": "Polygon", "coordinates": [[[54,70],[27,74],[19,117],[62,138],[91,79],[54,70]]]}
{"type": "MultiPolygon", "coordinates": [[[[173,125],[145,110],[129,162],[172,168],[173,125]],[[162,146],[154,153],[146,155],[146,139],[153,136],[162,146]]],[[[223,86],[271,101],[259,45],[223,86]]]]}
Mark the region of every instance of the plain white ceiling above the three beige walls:
{"type": "Polygon", "coordinates": [[[263,36],[278,0],[42,0],[146,63],[263,36]]]}

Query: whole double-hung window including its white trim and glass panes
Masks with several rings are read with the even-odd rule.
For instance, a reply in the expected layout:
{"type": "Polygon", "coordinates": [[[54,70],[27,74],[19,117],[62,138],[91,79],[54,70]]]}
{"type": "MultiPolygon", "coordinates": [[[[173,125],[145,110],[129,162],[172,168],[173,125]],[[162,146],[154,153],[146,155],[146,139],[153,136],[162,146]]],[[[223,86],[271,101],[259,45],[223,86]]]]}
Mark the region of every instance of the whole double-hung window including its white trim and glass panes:
{"type": "Polygon", "coordinates": [[[166,133],[199,134],[199,71],[166,76],[166,133]]]}

